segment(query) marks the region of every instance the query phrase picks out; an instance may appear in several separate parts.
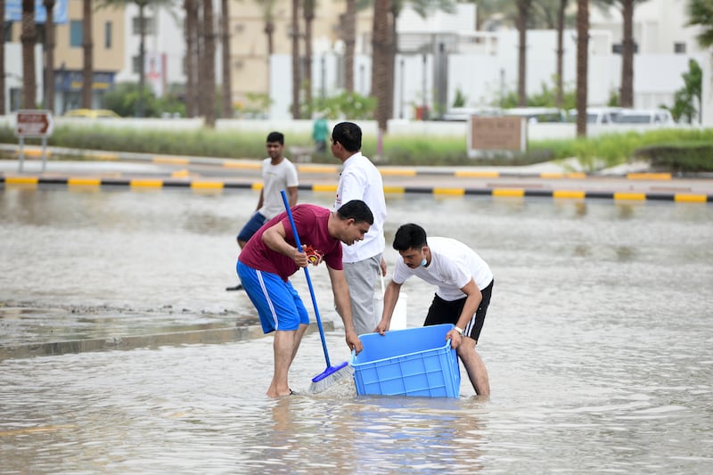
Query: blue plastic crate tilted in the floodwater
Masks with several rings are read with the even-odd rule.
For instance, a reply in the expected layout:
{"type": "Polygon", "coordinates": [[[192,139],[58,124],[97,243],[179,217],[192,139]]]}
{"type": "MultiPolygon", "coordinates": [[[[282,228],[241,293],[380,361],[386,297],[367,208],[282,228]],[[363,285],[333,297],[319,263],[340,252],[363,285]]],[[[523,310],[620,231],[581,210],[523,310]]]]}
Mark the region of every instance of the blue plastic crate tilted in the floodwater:
{"type": "Polygon", "coordinates": [[[364,349],[352,352],[356,393],[360,396],[458,397],[461,371],[446,333],[452,324],[366,333],[364,349]]]}

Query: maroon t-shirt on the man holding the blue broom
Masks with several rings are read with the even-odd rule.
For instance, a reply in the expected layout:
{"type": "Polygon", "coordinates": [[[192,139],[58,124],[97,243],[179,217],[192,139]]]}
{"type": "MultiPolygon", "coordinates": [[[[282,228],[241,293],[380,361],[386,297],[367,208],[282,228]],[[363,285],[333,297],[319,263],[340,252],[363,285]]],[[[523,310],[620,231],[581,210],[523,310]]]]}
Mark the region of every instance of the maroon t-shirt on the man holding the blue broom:
{"type": "MultiPolygon", "coordinates": [[[[341,270],[341,242],[329,234],[327,223],[331,211],[321,206],[312,204],[299,204],[292,210],[292,218],[299,234],[299,243],[307,246],[307,258],[311,264],[319,264],[324,260],[327,266],[332,269],[341,270]]],[[[255,233],[240,251],[238,260],[246,266],[263,272],[277,274],[283,281],[294,274],[299,269],[295,266],[295,261],[275,250],[271,250],[262,241],[262,234],[265,230],[281,222],[284,226],[285,240],[292,246],[297,247],[290,218],[283,212],[267,221],[257,233],[255,233]]]]}

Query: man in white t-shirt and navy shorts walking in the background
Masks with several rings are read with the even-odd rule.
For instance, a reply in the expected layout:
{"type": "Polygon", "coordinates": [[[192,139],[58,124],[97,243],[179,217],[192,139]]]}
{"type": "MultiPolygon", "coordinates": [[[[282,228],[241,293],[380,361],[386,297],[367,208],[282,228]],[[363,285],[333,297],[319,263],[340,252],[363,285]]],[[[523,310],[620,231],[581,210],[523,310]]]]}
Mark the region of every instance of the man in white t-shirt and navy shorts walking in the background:
{"type": "MultiPolygon", "coordinates": [[[[282,190],[287,193],[290,208],[297,204],[297,187],[299,185],[297,168],[283,156],[284,135],[280,132],[270,132],[267,135],[266,149],[268,157],[262,160],[263,187],[260,190],[258,207],[248,222],[242,226],[241,232],[238,233],[236,239],[240,249],[245,247],[252,235],[258,232],[260,226],[284,211],[283,197],[280,194],[282,190]]],[[[240,291],[242,284],[238,283],[225,290],[240,291]]]]}

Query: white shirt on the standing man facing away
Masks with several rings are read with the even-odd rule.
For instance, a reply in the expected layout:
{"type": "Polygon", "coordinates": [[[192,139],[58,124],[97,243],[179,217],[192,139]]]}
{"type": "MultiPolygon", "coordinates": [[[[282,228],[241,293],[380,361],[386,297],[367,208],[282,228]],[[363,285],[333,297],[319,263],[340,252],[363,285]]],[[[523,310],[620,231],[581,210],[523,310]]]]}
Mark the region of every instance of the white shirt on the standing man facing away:
{"type": "Polygon", "coordinates": [[[364,240],[351,246],[342,244],[342,261],[358,262],[372,258],[384,251],[384,221],[386,221],[386,201],[381,173],[361,152],[356,152],[344,162],[337,186],[337,200],[334,209],[352,200],[366,203],[373,214],[373,225],[364,240]]]}

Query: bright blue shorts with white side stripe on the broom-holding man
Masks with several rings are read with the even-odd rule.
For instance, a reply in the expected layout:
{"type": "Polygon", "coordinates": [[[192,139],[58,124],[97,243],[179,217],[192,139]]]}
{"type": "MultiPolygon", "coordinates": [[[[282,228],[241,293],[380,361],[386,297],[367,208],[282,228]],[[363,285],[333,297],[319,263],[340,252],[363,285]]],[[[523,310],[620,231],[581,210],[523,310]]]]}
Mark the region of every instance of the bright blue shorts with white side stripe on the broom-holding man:
{"type": "Polygon", "coordinates": [[[238,261],[238,277],[252,305],[258,309],[263,333],[275,330],[297,330],[300,323],[309,324],[307,308],[290,281],[277,274],[262,272],[238,261]]]}

